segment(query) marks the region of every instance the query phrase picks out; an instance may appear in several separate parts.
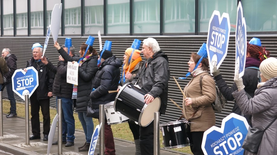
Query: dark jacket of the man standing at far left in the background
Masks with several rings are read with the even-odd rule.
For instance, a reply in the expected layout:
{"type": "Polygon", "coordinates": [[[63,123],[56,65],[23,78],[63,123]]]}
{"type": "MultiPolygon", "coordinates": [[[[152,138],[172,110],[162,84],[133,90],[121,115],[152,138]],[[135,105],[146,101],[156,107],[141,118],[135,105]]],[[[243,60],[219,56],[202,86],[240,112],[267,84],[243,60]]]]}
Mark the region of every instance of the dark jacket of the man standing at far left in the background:
{"type": "Polygon", "coordinates": [[[9,69],[8,73],[5,74],[5,78],[8,80],[8,83],[9,83],[9,82],[12,82],[12,75],[14,74],[15,70],[17,69],[17,65],[16,65],[17,58],[14,54],[8,54],[5,57],[5,60],[7,62],[7,66],[9,69]]]}

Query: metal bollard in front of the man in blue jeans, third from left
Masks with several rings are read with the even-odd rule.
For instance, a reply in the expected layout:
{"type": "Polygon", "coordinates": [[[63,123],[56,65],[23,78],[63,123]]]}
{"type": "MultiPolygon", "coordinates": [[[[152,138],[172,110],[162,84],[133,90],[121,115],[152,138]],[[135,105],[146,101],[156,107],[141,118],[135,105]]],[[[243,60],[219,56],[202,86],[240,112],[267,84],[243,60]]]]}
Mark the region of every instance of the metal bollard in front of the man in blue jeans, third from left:
{"type": "Polygon", "coordinates": [[[62,153],[62,109],[61,99],[58,99],[58,154],[62,153]]]}

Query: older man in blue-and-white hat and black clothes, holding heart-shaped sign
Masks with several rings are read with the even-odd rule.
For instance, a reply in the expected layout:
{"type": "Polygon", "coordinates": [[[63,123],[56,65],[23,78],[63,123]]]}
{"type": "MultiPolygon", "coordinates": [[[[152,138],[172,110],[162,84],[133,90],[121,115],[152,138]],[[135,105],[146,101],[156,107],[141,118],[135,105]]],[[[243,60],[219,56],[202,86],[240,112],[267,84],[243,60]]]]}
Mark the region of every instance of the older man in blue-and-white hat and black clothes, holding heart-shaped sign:
{"type": "MultiPolygon", "coordinates": [[[[40,139],[39,109],[43,116],[43,140],[48,141],[50,131],[50,97],[52,97],[52,87],[55,74],[51,72],[41,62],[43,48],[41,44],[35,43],[32,47],[33,57],[27,61],[27,67],[33,66],[38,71],[38,87],[30,97],[31,103],[31,125],[32,135],[30,140],[40,139]]],[[[49,62],[49,60],[48,60],[49,62]]],[[[27,71],[27,69],[24,71],[27,71]]]]}

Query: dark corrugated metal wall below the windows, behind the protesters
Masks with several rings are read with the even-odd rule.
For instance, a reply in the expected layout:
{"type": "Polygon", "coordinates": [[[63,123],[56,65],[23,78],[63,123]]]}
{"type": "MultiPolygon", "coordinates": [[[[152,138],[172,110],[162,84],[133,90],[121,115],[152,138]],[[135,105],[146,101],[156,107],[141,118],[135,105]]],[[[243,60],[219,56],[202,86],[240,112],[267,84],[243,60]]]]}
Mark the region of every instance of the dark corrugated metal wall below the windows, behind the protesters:
{"type": "MultiPolygon", "coordinates": [[[[112,41],[112,51],[120,59],[123,59],[125,50],[131,46],[134,39],[143,39],[149,36],[103,36],[102,45],[104,45],[105,40],[112,41]]],[[[176,103],[182,106],[182,98],[179,88],[177,87],[173,76],[184,77],[188,72],[187,62],[190,59],[191,52],[197,52],[202,43],[206,42],[207,36],[152,36],[155,38],[160,48],[163,52],[168,55],[169,65],[170,65],[170,81],[169,81],[169,92],[168,98],[173,99],[176,103]]],[[[249,41],[254,36],[248,36],[249,41]]],[[[271,52],[272,57],[277,57],[277,45],[276,36],[271,35],[260,35],[255,36],[262,40],[262,46],[265,46],[267,50],[271,52]]],[[[64,43],[65,37],[59,37],[58,43],[62,45],[64,43]]],[[[75,36],[72,38],[72,45],[75,46],[75,53],[78,54],[80,49],[80,44],[86,42],[87,36],[75,36]]],[[[0,49],[9,48],[13,54],[17,56],[17,64],[19,68],[25,68],[26,61],[32,57],[31,47],[33,43],[41,43],[44,45],[45,37],[0,37],[0,49]]],[[[142,45],[142,44],[141,44],[142,45]]],[[[95,36],[95,41],[93,44],[95,49],[99,49],[98,37],[95,36]]],[[[97,50],[99,52],[99,50],[97,50]]],[[[53,46],[53,40],[50,38],[47,46],[45,55],[51,60],[55,65],[58,62],[59,53],[53,46]]],[[[228,54],[220,66],[220,72],[223,78],[226,80],[227,84],[231,86],[233,84],[235,67],[235,36],[231,35],[229,39],[228,54]]],[[[178,83],[182,88],[188,83],[190,78],[186,80],[178,80],[178,83]]],[[[8,98],[6,90],[3,92],[3,98],[8,98]]],[[[23,101],[18,95],[15,94],[16,100],[23,101]]],[[[233,107],[233,101],[228,101],[226,108],[222,112],[216,112],[216,125],[220,126],[221,121],[224,117],[230,114],[233,107]]],[[[51,99],[51,106],[56,106],[55,98],[51,99]]],[[[172,122],[176,121],[181,115],[181,110],[178,109],[171,101],[168,101],[166,115],[161,116],[160,122],[172,122]]]]}

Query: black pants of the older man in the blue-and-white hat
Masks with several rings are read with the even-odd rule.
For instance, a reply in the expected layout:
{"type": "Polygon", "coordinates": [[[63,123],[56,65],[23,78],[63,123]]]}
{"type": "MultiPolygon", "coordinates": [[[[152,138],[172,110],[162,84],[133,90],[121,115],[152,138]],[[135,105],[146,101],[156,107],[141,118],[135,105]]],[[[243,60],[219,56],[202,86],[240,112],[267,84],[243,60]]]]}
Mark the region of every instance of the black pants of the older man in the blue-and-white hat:
{"type": "Polygon", "coordinates": [[[48,135],[50,132],[50,99],[37,100],[35,93],[30,97],[31,103],[31,125],[32,133],[35,136],[40,136],[39,109],[43,116],[43,135],[48,135]]]}

